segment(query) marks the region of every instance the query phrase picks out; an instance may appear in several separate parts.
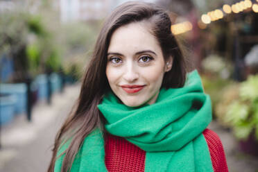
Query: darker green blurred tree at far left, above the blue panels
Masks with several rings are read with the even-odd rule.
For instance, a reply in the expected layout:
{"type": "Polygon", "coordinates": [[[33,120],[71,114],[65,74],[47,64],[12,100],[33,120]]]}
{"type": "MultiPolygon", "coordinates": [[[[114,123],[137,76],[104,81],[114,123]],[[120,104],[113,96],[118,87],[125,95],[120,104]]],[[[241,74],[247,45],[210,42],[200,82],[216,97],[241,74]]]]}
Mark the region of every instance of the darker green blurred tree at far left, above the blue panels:
{"type": "Polygon", "coordinates": [[[6,53],[15,62],[15,80],[35,76],[46,67],[56,71],[61,65],[60,49],[40,15],[25,11],[3,12],[0,15],[0,56],[6,53]]]}

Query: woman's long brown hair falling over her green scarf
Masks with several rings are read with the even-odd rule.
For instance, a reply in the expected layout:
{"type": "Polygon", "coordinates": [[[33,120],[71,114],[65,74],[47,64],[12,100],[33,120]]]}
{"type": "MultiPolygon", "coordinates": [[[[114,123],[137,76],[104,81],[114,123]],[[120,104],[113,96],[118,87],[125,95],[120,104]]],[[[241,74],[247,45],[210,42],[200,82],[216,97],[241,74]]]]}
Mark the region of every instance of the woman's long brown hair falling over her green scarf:
{"type": "Polygon", "coordinates": [[[105,74],[107,64],[107,49],[114,31],[132,22],[146,22],[150,33],[152,33],[160,43],[165,60],[173,57],[173,67],[171,71],[164,75],[162,87],[182,87],[186,78],[186,66],[182,51],[178,46],[175,36],[171,33],[171,19],[169,15],[153,3],[127,2],[117,7],[112,14],[107,17],[103,28],[98,35],[92,60],[89,62],[83,83],[80,89],[80,96],[74,110],[60,128],[55,137],[53,147],[53,157],[49,165],[49,172],[55,166],[55,160],[61,143],[71,139],[71,143],[65,150],[65,157],[62,162],[62,172],[71,169],[76,153],[82,146],[83,141],[95,128],[104,130],[105,119],[98,110],[97,105],[110,86],[105,74]]]}

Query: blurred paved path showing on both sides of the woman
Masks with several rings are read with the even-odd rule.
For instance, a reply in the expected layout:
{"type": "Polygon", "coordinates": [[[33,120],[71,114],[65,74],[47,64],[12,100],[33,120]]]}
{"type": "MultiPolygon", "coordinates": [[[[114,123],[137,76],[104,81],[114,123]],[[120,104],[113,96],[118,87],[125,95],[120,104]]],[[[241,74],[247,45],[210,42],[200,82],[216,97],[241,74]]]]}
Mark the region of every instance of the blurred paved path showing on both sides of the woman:
{"type": "MultiPolygon", "coordinates": [[[[53,97],[53,105],[36,105],[31,123],[26,121],[24,115],[3,128],[1,172],[46,171],[55,134],[78,97],[79,89],[79,85],[66,87],[65,94],[56,94],[53,97]]],[[[216,122],[212,122],[209,128],[221,137],[230,172],[258,171],[258,159],[241,153],[228,130],[221,128],[216,122]]]]}

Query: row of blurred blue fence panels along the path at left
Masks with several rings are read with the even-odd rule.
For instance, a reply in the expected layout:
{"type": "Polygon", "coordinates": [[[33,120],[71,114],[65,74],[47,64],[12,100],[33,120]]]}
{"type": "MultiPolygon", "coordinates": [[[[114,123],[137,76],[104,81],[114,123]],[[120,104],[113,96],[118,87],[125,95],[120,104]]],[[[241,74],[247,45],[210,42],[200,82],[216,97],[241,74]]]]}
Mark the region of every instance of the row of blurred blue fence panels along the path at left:
{"type": "MultiPolygon", "coordinates": [[[[46,74],[37,76],[31,83],[30,96],[32,96],[32,101],[46,100],[49,96],[49,87],[51,89],[51,94],[60,92],[62,87],[62,78],[55,73],[51,74],[49,78],[46,74]],[[36,96],[36,98],[34,96],[36,96]]],[[[28,88],[26,83],[0,84],[0,125],[11,121],[15,114],[24,114],[27,112],[27,92],[28,88]]],[[[35,104],[35,102],[31,103],[35,104]]]]}

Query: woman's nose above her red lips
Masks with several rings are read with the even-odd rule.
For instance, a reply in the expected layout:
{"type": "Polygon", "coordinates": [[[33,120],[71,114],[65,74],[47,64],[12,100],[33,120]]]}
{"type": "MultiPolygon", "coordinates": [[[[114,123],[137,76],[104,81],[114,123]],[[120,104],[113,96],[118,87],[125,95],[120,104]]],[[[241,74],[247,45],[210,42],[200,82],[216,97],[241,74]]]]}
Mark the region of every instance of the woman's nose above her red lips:
{"type": "Polygon", "coordinates": [[[132,83],[139,78],[139,72],[137,67],[133,63],[128,63],[123,72],[123,78],[128,82],[132,83]]]}

